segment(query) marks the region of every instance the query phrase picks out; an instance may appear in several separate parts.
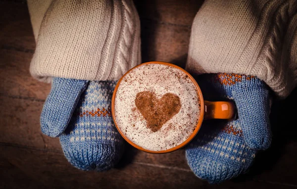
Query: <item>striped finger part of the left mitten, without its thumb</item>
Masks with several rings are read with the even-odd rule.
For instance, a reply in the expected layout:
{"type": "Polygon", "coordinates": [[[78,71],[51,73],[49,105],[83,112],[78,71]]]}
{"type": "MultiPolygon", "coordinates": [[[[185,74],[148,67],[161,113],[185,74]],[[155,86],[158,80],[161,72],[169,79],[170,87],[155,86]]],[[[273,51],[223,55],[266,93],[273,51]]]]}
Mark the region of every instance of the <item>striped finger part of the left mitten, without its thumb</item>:
{"type": "Polygon", "coordinates": [[[67,160],[78,169],[108,170],[122,156],[124,141],[110,106],[115,85],[114,81],[91,81],[59,137],[67,160]]]}

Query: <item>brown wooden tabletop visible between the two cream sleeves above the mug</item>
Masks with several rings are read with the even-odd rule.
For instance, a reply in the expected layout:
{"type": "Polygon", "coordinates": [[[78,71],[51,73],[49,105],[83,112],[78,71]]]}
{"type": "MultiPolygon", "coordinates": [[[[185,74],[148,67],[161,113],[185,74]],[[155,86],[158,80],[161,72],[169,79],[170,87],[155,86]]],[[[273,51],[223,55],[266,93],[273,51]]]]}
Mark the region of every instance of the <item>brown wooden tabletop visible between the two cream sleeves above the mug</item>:
{"type": "Polygon", "coordinates": [[[135,0],[141,20],[142,61],[185,67],[191,26],[203,0],[135,0]]]}

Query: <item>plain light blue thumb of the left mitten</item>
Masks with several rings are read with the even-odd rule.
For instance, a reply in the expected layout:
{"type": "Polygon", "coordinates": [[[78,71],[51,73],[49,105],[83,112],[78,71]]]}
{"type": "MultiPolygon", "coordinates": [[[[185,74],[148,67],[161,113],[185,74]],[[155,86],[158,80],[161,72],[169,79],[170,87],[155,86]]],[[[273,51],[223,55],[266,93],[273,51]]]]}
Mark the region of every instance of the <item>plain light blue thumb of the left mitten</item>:
{"type": "Polygon", "coordinates": [[[53,78],[40,116],[43,134],[58,137],[64,132],[88,83],[86,80],[53,78]]]}

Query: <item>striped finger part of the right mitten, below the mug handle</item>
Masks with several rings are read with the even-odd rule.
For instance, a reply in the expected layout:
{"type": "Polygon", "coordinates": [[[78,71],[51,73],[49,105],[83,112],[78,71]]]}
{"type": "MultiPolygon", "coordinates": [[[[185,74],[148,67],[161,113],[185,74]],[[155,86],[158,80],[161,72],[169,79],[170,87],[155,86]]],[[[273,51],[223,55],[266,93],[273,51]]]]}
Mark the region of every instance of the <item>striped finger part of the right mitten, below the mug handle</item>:
{"type": "MultiPolygon", "coordinates": [[[[206,122],[206,121],[204,121],[206,122]]],[[[196,138],[186,147],[186,158],[197,177],[220,183],[245,173],[256,150],[243,139],[239,121],[228,124],[204,123],[196,138]]]]}

